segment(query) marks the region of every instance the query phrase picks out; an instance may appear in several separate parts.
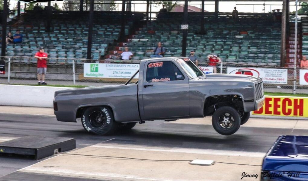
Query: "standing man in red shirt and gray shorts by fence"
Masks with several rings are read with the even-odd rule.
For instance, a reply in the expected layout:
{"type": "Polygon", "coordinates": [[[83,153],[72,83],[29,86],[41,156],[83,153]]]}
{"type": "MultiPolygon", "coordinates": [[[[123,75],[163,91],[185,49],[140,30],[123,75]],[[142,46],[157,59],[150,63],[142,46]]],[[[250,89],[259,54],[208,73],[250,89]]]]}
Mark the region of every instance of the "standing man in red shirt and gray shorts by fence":
{"type": "Polygon", "coordinates": [[[39,52],[37,52],[34,56],[38,59],[38,80],[39,85],[47,85],[45,82],[45,74],[47,71],[47,53],[44,53],[44,48],[39,48],[39,52]]]}

